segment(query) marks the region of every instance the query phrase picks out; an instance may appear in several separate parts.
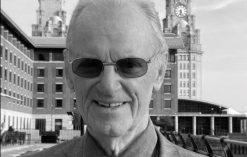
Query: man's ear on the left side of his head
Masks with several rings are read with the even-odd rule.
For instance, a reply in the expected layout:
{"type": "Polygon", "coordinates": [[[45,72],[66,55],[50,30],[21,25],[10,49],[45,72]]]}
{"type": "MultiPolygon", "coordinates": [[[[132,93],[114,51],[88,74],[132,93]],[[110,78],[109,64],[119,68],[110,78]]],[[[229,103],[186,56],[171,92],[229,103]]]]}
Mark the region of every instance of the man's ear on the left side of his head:
{"type": "Polygon", "coordinates": [[[69,88],[72,91],[74,91],[74,84],[73,84],[73,79],[72,79],[73,75],[72,75],[70,64],[69,64],[69,50],[68,49],[64,49],[63,56],[64,56],[64,65],[65,65],[64,70],[65,70],[66,81],[67,81],[69,88]]]}

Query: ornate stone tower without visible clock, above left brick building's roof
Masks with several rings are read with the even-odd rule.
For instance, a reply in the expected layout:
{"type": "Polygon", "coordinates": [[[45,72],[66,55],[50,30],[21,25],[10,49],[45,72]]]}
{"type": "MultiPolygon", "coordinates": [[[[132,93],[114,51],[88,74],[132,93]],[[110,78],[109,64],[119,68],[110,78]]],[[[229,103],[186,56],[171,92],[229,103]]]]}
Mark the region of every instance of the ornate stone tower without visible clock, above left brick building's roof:
{"type": "Polygon", "coordinates": [[[37,24],[32,25],[32,36],[66,36],[65,0],[39,0],[37,24]]]}

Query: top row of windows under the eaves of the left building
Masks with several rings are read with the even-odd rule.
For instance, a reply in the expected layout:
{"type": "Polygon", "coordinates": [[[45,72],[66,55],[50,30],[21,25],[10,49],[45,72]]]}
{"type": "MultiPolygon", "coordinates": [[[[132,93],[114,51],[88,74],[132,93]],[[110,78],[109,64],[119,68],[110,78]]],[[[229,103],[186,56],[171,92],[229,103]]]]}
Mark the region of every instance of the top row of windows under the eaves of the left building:
{"type": "Polygon", "coordinates": [[[31,59],[31,50],[25,47],[13,34],[11,34],[8,30],[4,29],[3,26],[1,26],[1,35],[31,59]]]}

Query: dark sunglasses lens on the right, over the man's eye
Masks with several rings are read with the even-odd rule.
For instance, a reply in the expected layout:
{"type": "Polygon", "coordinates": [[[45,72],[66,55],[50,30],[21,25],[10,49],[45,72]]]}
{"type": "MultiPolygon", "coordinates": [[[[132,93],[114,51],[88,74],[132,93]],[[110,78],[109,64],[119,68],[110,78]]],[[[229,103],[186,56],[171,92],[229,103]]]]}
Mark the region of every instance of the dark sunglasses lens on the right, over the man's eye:
{"type": "Polygon", "coordinates": [[[141,58],[120,59],[116,66],[119,73],[128,78],[141,77],[147,72],[147,62],[141,58]]]}

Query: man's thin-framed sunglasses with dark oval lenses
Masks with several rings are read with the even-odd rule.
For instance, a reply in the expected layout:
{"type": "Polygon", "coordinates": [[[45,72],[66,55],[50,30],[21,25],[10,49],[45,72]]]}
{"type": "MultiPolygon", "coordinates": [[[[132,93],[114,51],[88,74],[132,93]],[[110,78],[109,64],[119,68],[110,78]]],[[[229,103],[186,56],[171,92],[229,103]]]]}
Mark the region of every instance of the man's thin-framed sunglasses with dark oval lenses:
{"type": "Polygon", "coordinates": [[[114,66],[115,71],[122,77],[137,78],[145,75],[151,60],[142,58],[123,58],[115,63],[103,63],[99,59],[78,58],[72,61],[72,71],[84,78],[94,78],[101,74],[104,66],[114,66]]]}

